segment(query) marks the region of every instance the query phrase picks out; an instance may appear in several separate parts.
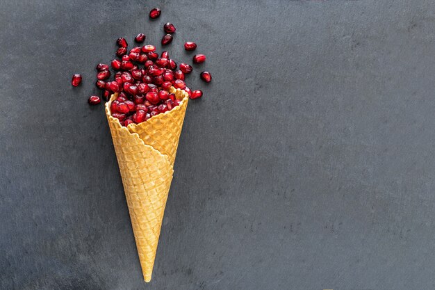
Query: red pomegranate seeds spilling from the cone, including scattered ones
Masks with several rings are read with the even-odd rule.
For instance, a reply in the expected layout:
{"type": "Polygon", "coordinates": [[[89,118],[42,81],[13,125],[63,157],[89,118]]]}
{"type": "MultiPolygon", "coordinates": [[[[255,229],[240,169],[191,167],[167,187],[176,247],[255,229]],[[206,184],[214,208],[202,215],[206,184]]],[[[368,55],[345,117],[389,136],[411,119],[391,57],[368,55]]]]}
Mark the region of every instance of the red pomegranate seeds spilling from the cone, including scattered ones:
{"type": "MultiPolygon", "coordinates": [[[[149,13],[152,19],[160,15],[159,8],[154,8],[149,13]]],[[[174,24],[167,22],[163,30],[167,34],[163,36],[161,43],[169,45],[172,42],[171,33],[175,33],[176,28],[174,24]]],[[[145,35],[139,33],[135,41],[144,42],[145,35]]],[[[169,52],[163,51],[159,55],[154,45],[133,47],[129,50],[129,44],[125,38],[118,38],[117,45],[116,55],[120,59],[115,58],[110,63],[116,73],[111,74],[109,65],[99,63],[96,67],[97,82],[95,85],[103,90],[102,97],[105,101],[108,101],[113,93],[118,93],[117,99],[110,104],[110,111],[123,126],[145,122],[154,115],[171,111],[172,108],[179,106],[181,101],[169,92],[172,86],[185,90],[190,99],[202,97],[202,90],[192,91],[185,83],[186,74],[193,71],[192,65],[180,63],[177,69],[178,65],[170,58],[169,52]],[[113,76],[111,81],[110,76],[113,76]]],[[[184,44],[184,49],[187,51],[193,51],[196,48],[195,42],[184,44]]],[[[204,63],[206,56],[196,54],[192,61],[197,64],[204,63]]],[[[206,83],[211,81],[210,72],[202,72],[200,76],[206,83]]],[[[79,86],[81,79],[81,74],[74,74],[72,86],[79,86]]],[[[100,97],[96,95],[88,99],[90,105],[97,105],[100,102],[100,97]]]]}

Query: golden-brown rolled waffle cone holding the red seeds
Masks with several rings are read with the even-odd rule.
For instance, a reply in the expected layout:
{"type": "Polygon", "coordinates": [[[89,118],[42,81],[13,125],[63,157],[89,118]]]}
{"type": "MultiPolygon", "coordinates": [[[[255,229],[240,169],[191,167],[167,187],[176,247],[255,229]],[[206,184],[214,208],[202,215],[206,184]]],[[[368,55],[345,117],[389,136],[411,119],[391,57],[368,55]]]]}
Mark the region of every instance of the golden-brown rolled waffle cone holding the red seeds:
{"type": "Polygon", "coordinates": [[[146,122],[124,127],[111,116],[106,103],[106,117],[120,167],[122,184],[129,207],[140,266],[146,282],[156,258],[158,237],[170,190],[174,160],[181,127],[188,104],[188,94],[171,88],[182,100],[171,111],[156,115],[146,122]]]}

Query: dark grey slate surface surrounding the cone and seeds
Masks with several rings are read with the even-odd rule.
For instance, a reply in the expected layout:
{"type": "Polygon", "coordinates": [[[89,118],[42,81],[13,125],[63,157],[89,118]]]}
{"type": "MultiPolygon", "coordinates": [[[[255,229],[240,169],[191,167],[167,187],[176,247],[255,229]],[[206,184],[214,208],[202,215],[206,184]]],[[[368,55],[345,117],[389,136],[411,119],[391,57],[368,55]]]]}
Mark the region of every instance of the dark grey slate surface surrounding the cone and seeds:
{"type": "Polygon", "coordinates": [[[0,289],[434,289],[434,11],[0,0],[0,289]],[[103,106],[86,99],[116,38],[159,43],[168,21],[177,62],[186,40],[208,58],[146,284],[103,106]]]}

